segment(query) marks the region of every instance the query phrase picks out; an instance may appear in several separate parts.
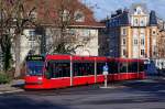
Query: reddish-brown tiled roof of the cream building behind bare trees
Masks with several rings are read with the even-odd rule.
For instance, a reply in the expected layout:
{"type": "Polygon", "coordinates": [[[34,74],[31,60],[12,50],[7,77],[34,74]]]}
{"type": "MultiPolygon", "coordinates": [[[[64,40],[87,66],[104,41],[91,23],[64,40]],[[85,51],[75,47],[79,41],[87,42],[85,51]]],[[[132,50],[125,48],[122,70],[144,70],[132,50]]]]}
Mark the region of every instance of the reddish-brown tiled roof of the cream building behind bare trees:
{"type": "Polygon", "coordinates": [[[103,28],[105,25],[97,22],[94,18],[94,12],[87,8],[79,0],[69,0],[70,2],[66,3],[66,0],[26,0],[28,8],[35,7],[37,13],[37,22],[41,22],[42,25],[55,26],[55,22],[59,19],[59,10],[65,7],[66,10],[73,11],[70,13],[74,17],[76,11],[81,11],[85,15],[82,22],[76,22],[72,20],[70,25],[73,26],[84,26],[84,28],[103,28]]]}

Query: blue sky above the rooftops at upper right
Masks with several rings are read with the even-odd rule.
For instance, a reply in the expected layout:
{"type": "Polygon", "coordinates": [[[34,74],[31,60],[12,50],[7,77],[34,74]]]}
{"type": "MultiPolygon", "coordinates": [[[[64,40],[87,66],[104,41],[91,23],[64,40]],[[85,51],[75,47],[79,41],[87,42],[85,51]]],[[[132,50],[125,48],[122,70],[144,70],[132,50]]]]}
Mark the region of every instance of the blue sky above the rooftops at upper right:
{"type": "Polygon", "coordinates": [[[130,8],[132,3],[145,3],[148,10],[154,10],[156,15],[165,20],[165,0],[82,0],[91,8],[97,20],[102,20],[117,9],[130,8]]]}

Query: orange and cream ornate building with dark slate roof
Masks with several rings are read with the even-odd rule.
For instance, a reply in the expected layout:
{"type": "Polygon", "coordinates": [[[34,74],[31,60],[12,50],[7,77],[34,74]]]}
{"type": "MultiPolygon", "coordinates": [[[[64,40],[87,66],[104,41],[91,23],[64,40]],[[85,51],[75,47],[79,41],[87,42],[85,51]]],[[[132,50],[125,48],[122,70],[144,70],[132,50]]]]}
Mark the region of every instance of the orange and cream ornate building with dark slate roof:
{"type": "Polygon", "coordinates": [[[158,24],[155,11],[145,4],[117,10],[106,20],[111,57],[151,58],[157,56],[158,24]]]}

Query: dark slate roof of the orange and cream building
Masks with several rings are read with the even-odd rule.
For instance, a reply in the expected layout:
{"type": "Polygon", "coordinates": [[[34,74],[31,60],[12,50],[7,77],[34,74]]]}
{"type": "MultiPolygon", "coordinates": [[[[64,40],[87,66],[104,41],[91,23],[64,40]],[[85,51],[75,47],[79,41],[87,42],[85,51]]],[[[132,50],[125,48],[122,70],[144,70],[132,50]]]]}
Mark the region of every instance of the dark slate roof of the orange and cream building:
{"type": "MultiPolygon", "coordinates": [[[[117,10],[114,14],[111,14],[111,18],[106,20],[107,28],[116,28],[116,26],[127,26],[131,24],[131,15],[134,13],[136,8],[140,7],[145,17],[148,18],[148,26],[157,26],[158,21],[155,11],[151,11],[148,14],[148,10],[146,6],[143,3],[134,3],[130,8],[130,10],[117,10]]],[[[105,21],[103,21],[105,22],[105,21]]]]}

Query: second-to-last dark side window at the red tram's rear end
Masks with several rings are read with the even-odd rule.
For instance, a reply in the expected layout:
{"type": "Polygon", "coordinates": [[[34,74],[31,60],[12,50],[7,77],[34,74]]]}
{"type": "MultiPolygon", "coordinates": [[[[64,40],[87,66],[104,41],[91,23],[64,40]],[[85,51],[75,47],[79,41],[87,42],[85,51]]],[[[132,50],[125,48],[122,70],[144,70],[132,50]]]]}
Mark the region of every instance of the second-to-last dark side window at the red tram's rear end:
{"type": "Polygon", "coordinates": [[[130,62],[128,66],[128,73],[138,73],[138,62],[130,62]]]}

